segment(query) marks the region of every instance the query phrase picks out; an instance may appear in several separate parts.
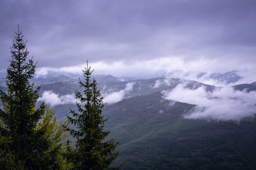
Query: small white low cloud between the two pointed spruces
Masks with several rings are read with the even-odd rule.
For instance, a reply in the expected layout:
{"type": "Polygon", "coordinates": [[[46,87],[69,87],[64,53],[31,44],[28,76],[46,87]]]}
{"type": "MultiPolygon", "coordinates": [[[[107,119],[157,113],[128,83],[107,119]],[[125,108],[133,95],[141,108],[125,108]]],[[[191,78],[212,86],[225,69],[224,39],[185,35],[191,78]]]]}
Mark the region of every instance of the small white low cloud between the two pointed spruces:
{"type": "Polygon", "coordinates": [[[53,93],[53,91],[44,91],[42,97],[38,98],[38,101],[45,101],[50,106],[56,106],[67,103],[75,103],[75,95],[67,94],[60,96],[59,94],[53,93]]]}

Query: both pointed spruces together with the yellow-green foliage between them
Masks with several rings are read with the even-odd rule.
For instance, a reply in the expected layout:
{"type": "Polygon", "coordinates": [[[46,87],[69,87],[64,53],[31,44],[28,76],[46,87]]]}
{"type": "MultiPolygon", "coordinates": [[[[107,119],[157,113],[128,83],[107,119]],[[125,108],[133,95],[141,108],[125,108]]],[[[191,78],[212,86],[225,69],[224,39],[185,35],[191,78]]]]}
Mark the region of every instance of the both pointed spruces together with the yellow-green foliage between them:
{"type": "Polygon", "coordinates": [[[110,166],[119,143],[106,140],[110,131],[104,130],[104,103],[88,63],[79,79],[83,91],[75,91],[77,111],[70,109],[60,124],[46,103],[36,106],[41,87],[30,81],[36,64],[33,57],[27,59],[28,53],[18,27],[6,72],[7,91],[0,90],[0,169],[121,169],[110,166]],[[75,138],[75,146],[66,140],[68,135],[75,138]]]}

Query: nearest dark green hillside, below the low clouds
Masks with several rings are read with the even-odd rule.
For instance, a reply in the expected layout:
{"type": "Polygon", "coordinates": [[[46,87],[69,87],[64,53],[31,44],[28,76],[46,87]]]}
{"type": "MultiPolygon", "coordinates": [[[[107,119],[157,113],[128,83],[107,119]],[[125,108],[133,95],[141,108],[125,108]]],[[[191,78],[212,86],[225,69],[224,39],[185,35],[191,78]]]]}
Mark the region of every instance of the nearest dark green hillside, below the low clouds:
{"type": "Polygon", "coordinates": [[[193,106],[161,94],[106,106],[123,169],[256,169],[256,123],[183,119],[193,106]]]}

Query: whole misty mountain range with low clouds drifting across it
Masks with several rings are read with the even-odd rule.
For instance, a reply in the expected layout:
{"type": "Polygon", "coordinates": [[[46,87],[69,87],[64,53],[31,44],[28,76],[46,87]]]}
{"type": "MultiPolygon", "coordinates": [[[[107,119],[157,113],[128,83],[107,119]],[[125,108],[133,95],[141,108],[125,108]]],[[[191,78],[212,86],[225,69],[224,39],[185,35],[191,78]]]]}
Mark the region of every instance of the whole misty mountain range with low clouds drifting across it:
{"type": "MultiPolygon", "coordinates": [[[[39,101],[54,108],[60,122],[69,108],[75,109],[78,77],[53,72],[33,79],[41,85],[39,101]]],[[[178,78],[93,77],[104,97],[105,128],[120,142],[114,164],[123,169],[256,169],[256,82],[225,90],[178,78]]],[[[235,72],[210,77],[228,84],[240,79],[235,72]]]]}

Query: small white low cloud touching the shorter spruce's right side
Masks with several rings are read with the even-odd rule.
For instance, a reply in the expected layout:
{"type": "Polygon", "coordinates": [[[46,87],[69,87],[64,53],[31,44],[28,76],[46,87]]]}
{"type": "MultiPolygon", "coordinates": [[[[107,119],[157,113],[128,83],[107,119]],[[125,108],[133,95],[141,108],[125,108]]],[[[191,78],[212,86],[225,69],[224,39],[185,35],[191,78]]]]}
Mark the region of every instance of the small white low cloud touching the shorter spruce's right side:
{"type": "Polygon", "coordinates": [[[108,103],[108,104],[113,104],[113,103],[117,103],[119,101],[122,101],[124,99],[125,94],[127,94],[129,91],[132,91],[134,86],[133,82],[129,82],[128,84],[126,84],[126,87],[124,90],[121,91],[115,91],[111,94],[104,94],[104,103],[108,103]]]}

